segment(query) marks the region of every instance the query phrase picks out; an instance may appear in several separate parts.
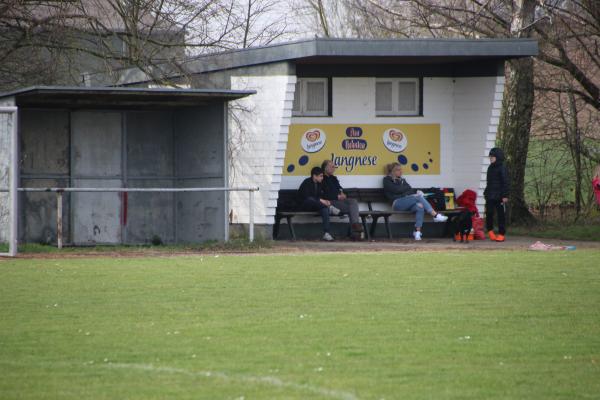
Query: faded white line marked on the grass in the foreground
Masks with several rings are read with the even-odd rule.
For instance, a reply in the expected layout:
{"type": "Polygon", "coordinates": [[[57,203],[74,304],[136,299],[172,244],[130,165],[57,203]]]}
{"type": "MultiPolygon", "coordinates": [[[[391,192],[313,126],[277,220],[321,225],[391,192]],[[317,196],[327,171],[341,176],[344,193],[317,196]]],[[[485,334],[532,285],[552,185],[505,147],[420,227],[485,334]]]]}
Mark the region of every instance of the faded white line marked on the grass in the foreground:
{"type": "Polygon", "coordinates": [[[108,363],[96,364],[107,368],[122,368],[138,371],[149,371],[154,373],[179,374],[191,377],[216,378],[224,381],[238,381],[243,383],[263,384],[268,386],[289,388],[299,391],[311,392],[320,396],[330,397],[340,400],[358,400],[353,393],[343,392],[339,390],[327,389],[318,386],[307,384],[299,384],[294,382],[286,382],[273,376],[249,376],[249,375],[227,375],[223,372],[215,371],[188,371],[182,368],[159,367],[152,364],[125,364],[125,363],[108,363]]]}

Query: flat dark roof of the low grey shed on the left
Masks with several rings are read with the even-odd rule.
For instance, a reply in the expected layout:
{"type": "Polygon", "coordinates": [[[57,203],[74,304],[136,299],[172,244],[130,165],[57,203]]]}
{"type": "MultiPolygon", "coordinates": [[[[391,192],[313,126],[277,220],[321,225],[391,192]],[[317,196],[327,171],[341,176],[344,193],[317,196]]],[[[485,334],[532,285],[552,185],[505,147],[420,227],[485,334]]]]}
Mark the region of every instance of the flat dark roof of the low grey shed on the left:
{"type": "Polygon", "coordinates": [[[18,107],[147,108],[200,106],[214,101],[236,100],[252,94],[256,94],[256,91],[32,86],[0,93],[0,99],[14,97],[18,107]]]}

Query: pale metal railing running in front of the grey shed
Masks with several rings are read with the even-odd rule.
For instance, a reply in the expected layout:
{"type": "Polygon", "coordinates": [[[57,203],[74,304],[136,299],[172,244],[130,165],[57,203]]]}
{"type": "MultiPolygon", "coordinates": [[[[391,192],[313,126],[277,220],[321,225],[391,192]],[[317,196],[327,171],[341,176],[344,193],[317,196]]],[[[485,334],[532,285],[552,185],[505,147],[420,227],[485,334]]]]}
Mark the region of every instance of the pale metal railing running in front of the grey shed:
{"type": "MultiPolygon", "coordinates": [[[[235,187],[235,188],[59,188],[59,187],[47,187],[47,188],[16,188],[18,192],[54,192],[56,193],[56,236],[58,248],[63,247],[62,232],[63,232],[63,194],[69,192],[117,192],[117,193],[129,193],[129,192],[154,192],[154,193],[180,193],[180,192],[248,192],[248,208],[249,208],[249,228],[248,228],[248,240],[254,241],[254,192],[257,192],[258,187],[235,187]]],[[[9,192],[9,189],[0,189],[0,192],[9,192]]],[[[11,196],[16,198],[16,196],[11,196]]],[[[16,200],[15,200],[16,201],[16,200]]],[[[16,210],[16,208],[15,208],[16,210]]],[[[12,215],[12,208],[11,208],[12,215]]],[[[13,222],[14,226],[11,226],[11,243],[13,237],[15,238],[14,249],[10,247],[9,253],[0,253],[0,256],[16,255],[16,237],[17,237],[17,223],[13,222]],[[13,232],[14,229],[14,232],[13,232]],[[14,236],[13,236],[14,235],[14,236]]],[[[227,223],[225,221],[225,223],[227,223]]],[[[12,224],[11,224],[12,225],[12,224]]],[[[226,230],[227,232],[227,230],[226,230]]],[[[229,235],[226,233],[225,240],[229,239],[229,235]]]]}

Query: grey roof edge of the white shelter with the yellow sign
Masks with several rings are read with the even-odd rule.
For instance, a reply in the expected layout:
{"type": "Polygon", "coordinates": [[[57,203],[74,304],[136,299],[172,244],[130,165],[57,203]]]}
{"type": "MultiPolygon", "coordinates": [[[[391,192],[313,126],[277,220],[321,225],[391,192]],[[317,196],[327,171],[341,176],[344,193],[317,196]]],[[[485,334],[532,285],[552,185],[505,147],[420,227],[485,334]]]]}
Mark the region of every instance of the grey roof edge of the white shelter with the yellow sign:
{"type": "MultiPolygon", "coordinates": [[[[535,39],[322,39],[300,40],[206,54],[183,62],[191,74],[293,61],[296,64],[432,64],[504,61],[538,54],[535,39]]],[[[167,76],[176,77],[180,71],[167,76]]],[[[99,74],[102,75],[102,74],[99,74]]],[[[115,84],[151,79],[137,68],[120,71],[115,84]]]]}

